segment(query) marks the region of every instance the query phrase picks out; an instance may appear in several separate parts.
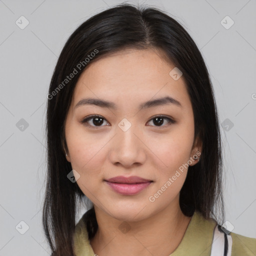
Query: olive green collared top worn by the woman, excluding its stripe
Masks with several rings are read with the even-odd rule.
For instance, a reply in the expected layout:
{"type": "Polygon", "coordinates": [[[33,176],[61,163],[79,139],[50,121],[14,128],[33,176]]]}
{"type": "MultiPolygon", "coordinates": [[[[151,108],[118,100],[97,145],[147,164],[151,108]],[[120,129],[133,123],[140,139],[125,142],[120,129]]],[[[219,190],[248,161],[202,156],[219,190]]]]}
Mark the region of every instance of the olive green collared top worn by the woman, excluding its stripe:
{"type": "MultiPolygon", "coordinates": [[[[75,255],[94,256],[84,221],[86,219],[84,220],[81,217],[75,225],[73,236],[75,255]]],[[[169,256],[210,256],[213,231],[216,224],[213,218],[207,220],[200,212],[195,211],[181,242],[169,256]]],[[[256,256],[256,238],[233,232],[230,232],[230,234],[232,237],[232,256],[256,256]]]]}

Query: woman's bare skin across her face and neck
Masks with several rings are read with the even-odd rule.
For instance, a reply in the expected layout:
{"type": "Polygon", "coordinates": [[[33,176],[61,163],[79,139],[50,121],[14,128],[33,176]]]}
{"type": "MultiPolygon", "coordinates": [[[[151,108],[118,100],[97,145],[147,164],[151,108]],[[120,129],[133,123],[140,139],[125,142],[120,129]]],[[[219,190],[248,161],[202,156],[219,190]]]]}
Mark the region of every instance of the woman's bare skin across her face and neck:
{"type": "MultiPolygon", "coordinates": [[[[99,228],[90,244],[99,256],[169,255],[191,219],[179,207],[187,168],[154,202],[148,199],[201,151],[197,140],[192,147],[192,105],[183,76],[174,80],[169,75],[174,67],[159,49],[126,49],[92,62],[75,86],[65,120],[66,159],[80,175],[78,186],[94,204],[99,228]],[[183,107],[138,108],[144,101],[166,95],[183,107]],[[95,105],[74,108],[86,97],[112,101],[117,109],[95,105]],[[96,126],[95,119],[94,123],[90,119],[88,126],[80,122],[92,114],[104,118],[101,126],[96,126]],[[164,119],[157,126],[152,118],[159,114],[176,122],[168,125],[164,119]],[[127,131],[118,126],[123,118],[131,123],[127,131]],[[122,195],[104,181],[118,175],[137,175],[153,182],[135,195],[122,195]],[[120,224],[129,231],[122,232],[120,224]]],[[[193,160],[189,165],[196,163],[193,160]]]]}

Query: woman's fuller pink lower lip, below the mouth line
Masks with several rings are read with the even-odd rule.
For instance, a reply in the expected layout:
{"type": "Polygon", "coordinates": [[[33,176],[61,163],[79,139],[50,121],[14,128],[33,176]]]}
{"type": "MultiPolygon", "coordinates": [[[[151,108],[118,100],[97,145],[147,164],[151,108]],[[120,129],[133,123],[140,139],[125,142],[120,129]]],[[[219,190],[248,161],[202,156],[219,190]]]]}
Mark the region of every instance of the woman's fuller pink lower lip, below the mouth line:
{"type": "Polygon", "coordinates": [[[151,182],[128,184],[128,183],[113,183],[113,182],[106,181],[106,183],[109,186],[111,186],[111,188],[117,193],[125,194],[125,195],[133,195],[145,189],[148,185],[150,185],[151,182]]]}

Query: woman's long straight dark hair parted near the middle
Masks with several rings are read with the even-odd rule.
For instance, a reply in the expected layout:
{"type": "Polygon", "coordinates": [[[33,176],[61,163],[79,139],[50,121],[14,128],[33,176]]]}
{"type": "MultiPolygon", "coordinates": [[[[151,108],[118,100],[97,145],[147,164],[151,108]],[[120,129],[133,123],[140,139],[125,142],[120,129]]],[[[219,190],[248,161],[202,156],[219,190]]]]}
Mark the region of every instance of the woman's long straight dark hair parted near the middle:
{"type": "MultiPolygon", "coordinates": [[[[218,115],[202,55],[182,25],[167,13],[156,7],[119,4],[95,14],[75,29],[51,77],[47,95],[47,178],[42,222],[54,255],[74,255],[75,214],[77,205],[86,198],[77,183],[67,178],[72,167],[64,153],[64,150],[68,152],[64,124],[75,84],[88,65],[125,48],[161,49],[182,71],[194,114],[194,138],[200,138],[202,149],[200,160],[189,166],[180,190],[180,208],[186,216],[197,210],[206,219],[213,216],[219,223],[223,221],[218,115]]],[[[97,231],[93,207],[86,216],[91,239],[97,231]]]]}

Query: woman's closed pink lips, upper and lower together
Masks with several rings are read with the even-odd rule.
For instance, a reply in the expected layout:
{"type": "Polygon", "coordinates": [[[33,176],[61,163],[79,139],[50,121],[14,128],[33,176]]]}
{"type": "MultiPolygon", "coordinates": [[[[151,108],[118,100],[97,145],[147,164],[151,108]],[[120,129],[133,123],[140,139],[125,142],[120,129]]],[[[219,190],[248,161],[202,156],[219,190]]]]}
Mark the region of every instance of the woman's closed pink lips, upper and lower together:
{"type": "Polygon", "coordinates": [[[139,176],[116,176],[105,181],[115,192],[125,195],[136,194],[152,182],[139,176]]]}

